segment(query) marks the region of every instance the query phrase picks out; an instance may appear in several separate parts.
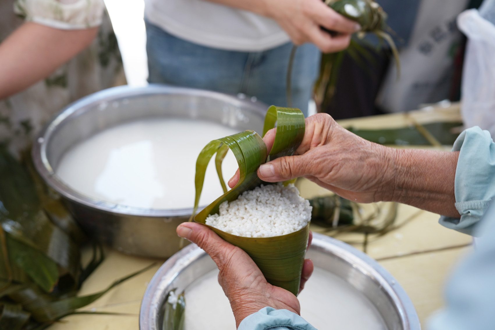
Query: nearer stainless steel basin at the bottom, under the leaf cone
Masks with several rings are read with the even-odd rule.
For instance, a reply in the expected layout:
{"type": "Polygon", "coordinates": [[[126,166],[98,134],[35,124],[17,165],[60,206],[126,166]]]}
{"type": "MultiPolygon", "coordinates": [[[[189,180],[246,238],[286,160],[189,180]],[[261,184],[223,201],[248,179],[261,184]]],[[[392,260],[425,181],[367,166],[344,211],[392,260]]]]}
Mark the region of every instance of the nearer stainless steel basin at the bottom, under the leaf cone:
{"type": "MultiPolygon", "coordinates": [[[[365,253],[331,237],[313,233],[306,253],[315,267],[325,269],[360,291],[376,307],[388,330],[420,330],[411,300],[378,262],[365,253]]],[[[202,275],[216,269],[213,260],[191,244],[158,269],[146,289],[139,319],[140,330],[164,330],[163,305],[168,292],[181,292],[202,275]]],[[[187,302],[186,302],[187,308],[187,302]]]]}

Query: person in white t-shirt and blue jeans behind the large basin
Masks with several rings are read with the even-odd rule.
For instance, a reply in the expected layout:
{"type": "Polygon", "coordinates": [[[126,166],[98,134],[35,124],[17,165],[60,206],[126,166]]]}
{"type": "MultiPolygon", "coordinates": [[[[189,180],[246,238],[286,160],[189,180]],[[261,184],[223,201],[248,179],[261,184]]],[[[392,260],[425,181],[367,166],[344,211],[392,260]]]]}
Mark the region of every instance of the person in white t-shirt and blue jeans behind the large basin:
{"type": "Polygon", "coordinates": [[[292,99],[305,113],[320,50],[346,48],[350,35],[359,29],[322,0],[145,3],[149,82],[243,93],[267,104],[287,106],[286,74],[294,43],[300,46],[292,99]]]}

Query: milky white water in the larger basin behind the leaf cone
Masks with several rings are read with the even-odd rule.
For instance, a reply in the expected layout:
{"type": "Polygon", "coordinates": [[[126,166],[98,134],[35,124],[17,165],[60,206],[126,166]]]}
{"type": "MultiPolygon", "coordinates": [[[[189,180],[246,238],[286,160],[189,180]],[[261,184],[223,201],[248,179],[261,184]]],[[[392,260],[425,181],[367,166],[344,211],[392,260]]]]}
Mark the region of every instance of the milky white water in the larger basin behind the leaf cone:
{"type": "MultiPolygon", "coordinates": [[[[116,204],[177,209],[194,206],[196,160],[211,140],[239,129],[185,119],[147,119],[108,128],[67,151],[56,174],[74,190],[116,204]]],[[[212,157],[199,205],[223,194],[212,157]]],[[[237,170],[229,151],[222,170],[237,170]]]]}

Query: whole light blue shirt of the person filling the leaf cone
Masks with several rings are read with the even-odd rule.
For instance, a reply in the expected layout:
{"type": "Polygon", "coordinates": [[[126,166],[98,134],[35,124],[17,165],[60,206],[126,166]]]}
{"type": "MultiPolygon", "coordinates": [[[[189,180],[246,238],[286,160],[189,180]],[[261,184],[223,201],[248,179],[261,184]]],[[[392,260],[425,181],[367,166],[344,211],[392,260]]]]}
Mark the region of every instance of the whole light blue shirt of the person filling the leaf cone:
{"type": "MultiPolygon", "coordinates": [[[[452,151],[459,151],[454,191],[461,218],[442,216],[440,223],[481,239],[452,274],[446,287],[446,307],[431,318],[427,329],[494,330],[495,202],[490,205],[495,197],[495,143],[488,131],[472,127],[459,135],[452,151]]],[[[268,329],[315,330],[297,314],[271,307],[249,315],[238,328],[268,329]]]]}

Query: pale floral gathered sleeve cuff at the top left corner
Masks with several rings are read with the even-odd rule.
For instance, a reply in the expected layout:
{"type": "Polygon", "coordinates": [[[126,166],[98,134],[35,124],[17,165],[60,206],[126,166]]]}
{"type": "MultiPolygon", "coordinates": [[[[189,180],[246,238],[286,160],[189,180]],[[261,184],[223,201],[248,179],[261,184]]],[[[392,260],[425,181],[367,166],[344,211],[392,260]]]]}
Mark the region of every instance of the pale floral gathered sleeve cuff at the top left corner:
{"type": "Polygon", "coordinates": [[[75,30],[99,26],[103,0],[15,0],[14,11],[26,21],[56,29],[75,30]]]}

